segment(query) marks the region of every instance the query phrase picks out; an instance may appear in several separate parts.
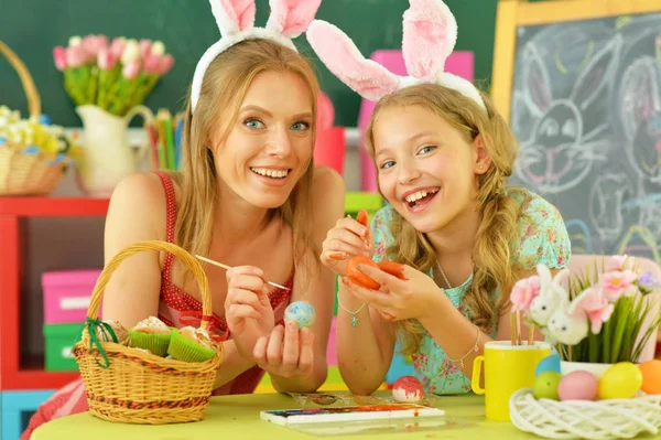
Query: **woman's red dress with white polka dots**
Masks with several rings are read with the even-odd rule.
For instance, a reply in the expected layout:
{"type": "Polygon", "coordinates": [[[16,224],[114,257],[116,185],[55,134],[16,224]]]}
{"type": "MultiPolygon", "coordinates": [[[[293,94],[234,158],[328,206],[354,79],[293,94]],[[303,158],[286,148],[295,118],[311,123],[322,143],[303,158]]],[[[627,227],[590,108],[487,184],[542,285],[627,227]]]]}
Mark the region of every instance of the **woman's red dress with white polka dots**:
{"type": "MultiPolygon", "coordinates": [[[[174,243],[176,222],[176,200],[174,196],[174,186],[172,184],[172,179],[167,174],[160,172],[156,172],[156,174],[161,178],[161,182],[163,183],[163,189],[165,191],[167,206],[166,240],[169,243],[174,243]]],[[[165,257],[165,264],[161,273],[159,319],[161,319],[167,325],[182,328],[185,325],[191,325],[192,323],[186,321],[185,316],[180,318],[180,313],[187,312],[188,315],[201,315],[202,303],[172,282],[173,262],[174,255],[169,254],[165,257]]],[[[292,270],[283,286],[291,289],[293,287],[293,282],[294,270],[292,270]]],[[[290,293],[291,290],[275,289],[269,294],[277,323],[283,323],[284,309],[289,303],[290,293]]],[[[214,314],[212,326],[214,328],[214,332],[219,335],[227,332],[227,322],[225,321],[225,318],[217,316],[216,314],[214,314]]],[[[229,337],[231,339],[231,334],[229,334],[229,337]]],[[[219,396],[227,394],[253,393],[263,375],[264,371],[256,365],[221,387],[214,389],[213,395],[219,396]]],[[[30,419],[28,429],[22,433],[21,440],[29,440],[32,431],[47,421],[73,414],[84,412],[88,409],[83,380],[77,379],[72,382],[65,387],[58,389],[48,400],[39,407],[34,416],[32,416],[30,419]]]]}

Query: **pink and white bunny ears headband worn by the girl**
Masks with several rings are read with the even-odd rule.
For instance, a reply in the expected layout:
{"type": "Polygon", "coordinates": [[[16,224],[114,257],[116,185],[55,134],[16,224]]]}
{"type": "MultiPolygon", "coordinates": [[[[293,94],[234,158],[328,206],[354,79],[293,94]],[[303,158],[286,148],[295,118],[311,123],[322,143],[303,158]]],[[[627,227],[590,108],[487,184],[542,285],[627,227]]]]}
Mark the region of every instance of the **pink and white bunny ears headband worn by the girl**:
{"type": "Polygon", "coordinates": [[[442,0],[409,0],[403,15],[402,54],[409,76],[399,76],[379,63],[366,60],[354,42],[333,24],[315,20],[306,36],[328,69],[366,99],[383,96],[416,84],[438,84],[485,103],[470,82],[444,72],[445,61],[457,41],[457,22],[442,0]]]}

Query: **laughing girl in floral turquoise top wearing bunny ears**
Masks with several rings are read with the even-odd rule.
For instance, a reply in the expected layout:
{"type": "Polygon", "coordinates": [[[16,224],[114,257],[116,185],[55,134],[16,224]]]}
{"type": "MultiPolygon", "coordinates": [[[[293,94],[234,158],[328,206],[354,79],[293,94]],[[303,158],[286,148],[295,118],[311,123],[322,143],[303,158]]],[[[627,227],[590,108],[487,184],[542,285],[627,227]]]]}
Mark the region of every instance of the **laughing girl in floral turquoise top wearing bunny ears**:
{"type": "Polygon", "coordinates": [[[313,22],[307,39],[335,75],[378,100],[365,138],[388,202],[371,232],[340,219],[327,234],[322,261],[340,276],[358,255],[402,265],[400,273],[389,270],[394,275],[358,265],[378,290],[343,277],[343,378],[355,394],[376,390],[399,337],[427,391],[466,393],[484,344],[510,340],[513,283],[538,264],[552,272],[568,264],[562,217],[540,196],[506,189],[516,140],[485,95],[443,72],[456,39],[443,2],[411,0],[404,13],[408,77],[362,58],[328,23],[313,22]]]}

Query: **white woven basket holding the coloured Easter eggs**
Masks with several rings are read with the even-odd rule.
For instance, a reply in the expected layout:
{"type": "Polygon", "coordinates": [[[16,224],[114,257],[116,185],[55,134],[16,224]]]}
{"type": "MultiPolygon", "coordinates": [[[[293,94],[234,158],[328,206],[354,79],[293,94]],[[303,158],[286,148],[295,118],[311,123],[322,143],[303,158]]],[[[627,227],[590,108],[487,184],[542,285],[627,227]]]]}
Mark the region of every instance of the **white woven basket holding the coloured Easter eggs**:
{"type": "Polygon", "coordinates": [[[510,419],[521,431],[548,439],[630,439],[661,430],[661,395],[632,399],[535,399],[532,388],[510,398],[510,419]]]}

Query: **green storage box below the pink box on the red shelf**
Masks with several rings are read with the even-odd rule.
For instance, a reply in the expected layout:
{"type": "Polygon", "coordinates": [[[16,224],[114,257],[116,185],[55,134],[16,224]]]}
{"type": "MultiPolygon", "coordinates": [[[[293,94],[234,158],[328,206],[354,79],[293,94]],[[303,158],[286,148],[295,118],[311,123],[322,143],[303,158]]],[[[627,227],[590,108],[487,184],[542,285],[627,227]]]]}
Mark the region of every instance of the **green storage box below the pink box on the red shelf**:
{"type": "Polygon", "coordinates": [[[45,369],[46,372],[72,372],[78,369],[72,350],[80,333],[83,323],[44,324],[45,369]]]}

